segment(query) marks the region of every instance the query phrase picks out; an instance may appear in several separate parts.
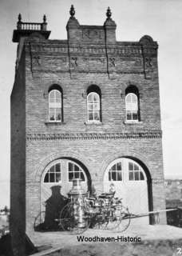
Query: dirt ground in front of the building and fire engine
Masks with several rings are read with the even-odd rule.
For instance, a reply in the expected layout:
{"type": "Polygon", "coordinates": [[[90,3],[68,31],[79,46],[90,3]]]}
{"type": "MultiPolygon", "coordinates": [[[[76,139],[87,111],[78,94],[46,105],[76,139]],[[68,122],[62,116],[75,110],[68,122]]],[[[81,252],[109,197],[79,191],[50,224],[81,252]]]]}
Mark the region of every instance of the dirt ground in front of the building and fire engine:
{"type": "Polygon", "coordinates": [[[34,256],[180,256],[182,229],[168,225],[131,226],[123,233],[106,230],[87,230],[86,238],[140,237],[141,242],[78,242],[76,235],[66,233],[38,233],[31,239],[41,251],[34,256]],[[41,247],[43,246],[43,247],[41,247]],[[46,248],[45,248],[45,247],[46,248]]]}

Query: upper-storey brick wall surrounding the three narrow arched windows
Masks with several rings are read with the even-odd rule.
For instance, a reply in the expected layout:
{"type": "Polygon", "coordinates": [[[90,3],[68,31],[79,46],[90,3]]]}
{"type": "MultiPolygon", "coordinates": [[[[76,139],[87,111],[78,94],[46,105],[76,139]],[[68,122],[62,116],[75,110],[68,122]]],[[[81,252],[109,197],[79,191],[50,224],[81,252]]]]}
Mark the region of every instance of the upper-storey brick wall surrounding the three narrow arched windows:
{"type": "Polygon", "coordinates": [[[110,81],[106,74],[80,74],[70,79],[69,74],[43,73],[27,78],[26,87],[27,132],[97,132],[160,130],[160,102],[157,79],[144,80],[143,75],[122,75],[110,81]],[[83,79],[84,77],[84,79],[83,79]],[[136,125],[125,123],[125,89],[129,81],[139,87],[140,120],[136,125]],[[56,83],[63,91],[64,123],[51,126],[48,122],[48,90],[56,83]],[[87,122],[87,88],[97,84],[101,89],[102,123],[89,126],[87,122]],[[121,95],[122,94],[122,95],[121,95]],[[157,99],[156,99],[157,98],[157,99]]]}

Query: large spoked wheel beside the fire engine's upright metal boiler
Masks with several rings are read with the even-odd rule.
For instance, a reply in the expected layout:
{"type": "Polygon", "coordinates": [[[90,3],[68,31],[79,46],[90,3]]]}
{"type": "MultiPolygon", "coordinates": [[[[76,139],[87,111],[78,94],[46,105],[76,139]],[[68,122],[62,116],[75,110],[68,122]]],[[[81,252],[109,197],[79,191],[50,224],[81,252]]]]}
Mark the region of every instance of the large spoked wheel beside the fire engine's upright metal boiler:
{"type": "Polygon", "coordinates": [[[69,202],[63,207],[60,214],[59,226],[61,230],[70,234],[81,234],[89,228],[89,216],[85,206],[69,202]]]}

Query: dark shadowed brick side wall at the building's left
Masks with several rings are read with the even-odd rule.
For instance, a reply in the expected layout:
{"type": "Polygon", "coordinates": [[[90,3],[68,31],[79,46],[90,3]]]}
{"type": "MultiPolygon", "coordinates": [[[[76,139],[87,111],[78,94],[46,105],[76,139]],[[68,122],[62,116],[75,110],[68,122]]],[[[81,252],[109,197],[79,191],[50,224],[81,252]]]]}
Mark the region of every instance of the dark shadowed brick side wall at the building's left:
{"type": "Polygon", "coordinates": [[[24,255],[26,230],[26,95],[25,54],[11,93],[10,232],[14,256],[24,255]]]}

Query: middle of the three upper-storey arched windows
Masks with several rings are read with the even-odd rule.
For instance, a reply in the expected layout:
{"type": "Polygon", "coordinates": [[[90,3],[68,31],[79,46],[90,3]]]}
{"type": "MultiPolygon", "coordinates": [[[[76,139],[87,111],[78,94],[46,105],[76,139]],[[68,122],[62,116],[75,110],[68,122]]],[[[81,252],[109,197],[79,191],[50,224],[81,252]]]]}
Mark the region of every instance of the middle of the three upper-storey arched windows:
{"type": "Polygon", "coordinates": [[[96,92],[90,92],[87,95],[87,114],[88,122],[101,121],[101,101],[100,95],[96,92]]]}

